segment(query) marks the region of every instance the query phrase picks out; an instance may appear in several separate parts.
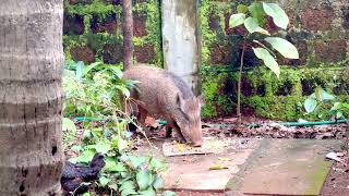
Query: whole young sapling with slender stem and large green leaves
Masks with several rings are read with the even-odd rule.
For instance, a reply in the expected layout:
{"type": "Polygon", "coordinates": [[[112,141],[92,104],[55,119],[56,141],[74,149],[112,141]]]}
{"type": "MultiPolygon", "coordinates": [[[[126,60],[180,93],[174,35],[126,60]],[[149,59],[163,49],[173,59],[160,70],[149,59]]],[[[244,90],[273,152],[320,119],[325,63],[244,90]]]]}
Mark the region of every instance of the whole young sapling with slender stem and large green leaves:
{"type": "Polygon", "coordinates": [[[241,75],[243,68],[243,57],[246,49],[252,48],[254,54],[261,59],[279,78],[280,69],[276,61],[273,49],[289,59],[299,59],[297,48],[288,40],[280,37],[270,37],[270,33],[263,28],[267,17],[272,17],[276,26],[286,29],[289,19],[285,11],[276,3],[253,2],[249,7],[239,4],[238,13],[230,16],[229,26],[231,28],[243,25],[246,29],[243,35],[242,54],[240,61],[240,72],[238,79],[238,123],[241,123],[241,75]],[[267,46],[272,46],[272,49],[267,46]]]}

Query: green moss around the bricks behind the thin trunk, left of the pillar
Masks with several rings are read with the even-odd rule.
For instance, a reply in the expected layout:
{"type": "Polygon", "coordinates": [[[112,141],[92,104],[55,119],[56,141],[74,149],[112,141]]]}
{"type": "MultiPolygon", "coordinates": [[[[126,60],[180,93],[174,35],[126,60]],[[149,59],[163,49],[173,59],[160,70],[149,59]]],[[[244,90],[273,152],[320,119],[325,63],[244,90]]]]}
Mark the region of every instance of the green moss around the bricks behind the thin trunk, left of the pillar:
{"type": "MultiPolygon", "coordinates": [[[[64,53],[67,59],[71,59],[70,49],[75,46],[89,46],[96,53],[96,59],[101,59],[104,46],[106,44],[122,45],[122,8],[121,5],[113,5],[105,3],[104,0],[93,0],[91,4],[74,4],[71,5],[69,0],[64,0],[64,11],[67,14],[82,15],[84,19],[84,34],[83,35],[64,35],[64,53]],[[93,34],[91,30],[91,23],[93,19],[103,22],[108,16],[115,15],[118,22],[118,27],[113,34],[97,33],[93,34]]],[[[160,7],[157,0],[149,0],[147,2],[136,3],[133,7],[134,14],[146,16],[147,35],[143,37],[134,37],[134,46],[153,45],[155,47],[156,58],[153,62],[163,66],[163,49],[161,49],[161,25],[160,25],[160,7]]]]}

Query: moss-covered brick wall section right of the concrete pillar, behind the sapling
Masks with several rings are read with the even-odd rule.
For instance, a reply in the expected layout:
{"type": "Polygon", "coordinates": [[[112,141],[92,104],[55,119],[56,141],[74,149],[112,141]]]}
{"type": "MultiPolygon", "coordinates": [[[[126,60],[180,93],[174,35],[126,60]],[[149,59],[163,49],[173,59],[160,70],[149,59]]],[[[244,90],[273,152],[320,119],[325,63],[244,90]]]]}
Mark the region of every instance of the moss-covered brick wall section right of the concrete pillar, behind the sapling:
{"type": "MultiPolygon", "coordinates": [[[[202,87],[206,96],[204,117],[233,114],[237,102],[237,68],[241,28],[228,22],[239,3],[252,0],[202,0],[202,87]]],[[[278,59],[280,79],[248,51],[242,78],[242,112],[265,118],[297,120],[305,96],[320,85],[340,99],[349,94],[349,2],[282,0],[291,25],[285,36],[300,52],[300,60],[278,59]],[[260,66],[257,66],[260,65],[260,66]]],[[[277,32],[273,20],[265,28],[277,32]]]]}

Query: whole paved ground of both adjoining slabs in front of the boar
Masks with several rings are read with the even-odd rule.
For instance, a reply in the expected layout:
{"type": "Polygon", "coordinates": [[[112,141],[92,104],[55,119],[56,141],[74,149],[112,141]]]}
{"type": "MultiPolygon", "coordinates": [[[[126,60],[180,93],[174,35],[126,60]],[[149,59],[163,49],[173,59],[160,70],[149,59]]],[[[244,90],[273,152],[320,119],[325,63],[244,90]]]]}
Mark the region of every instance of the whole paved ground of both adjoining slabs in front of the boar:
{"type": "MultiPolygon", "coordinates": [[[[338,140],[237,138],[216,154],[167,157],[166,189],[183,196],[320,195],[330,169],[325,155],[339,148],[338,140]]],[[[163,157],[160,149],[141,154],[149,151],[163,157]]]]}

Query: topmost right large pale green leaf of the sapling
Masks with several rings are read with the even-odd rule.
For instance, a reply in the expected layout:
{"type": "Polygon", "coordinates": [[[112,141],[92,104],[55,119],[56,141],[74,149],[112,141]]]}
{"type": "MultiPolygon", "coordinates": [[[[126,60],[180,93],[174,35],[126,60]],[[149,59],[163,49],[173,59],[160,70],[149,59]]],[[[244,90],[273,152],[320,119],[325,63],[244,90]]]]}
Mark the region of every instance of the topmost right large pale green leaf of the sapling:
{"type": "Polygon", "coordinates": [[[280,27],[286,29],[289,24],[289,19],[285,11],[276,3],[265,3],[263,2],[263,9],[265,13],[273,17],[274,23],[280,27]]]}

